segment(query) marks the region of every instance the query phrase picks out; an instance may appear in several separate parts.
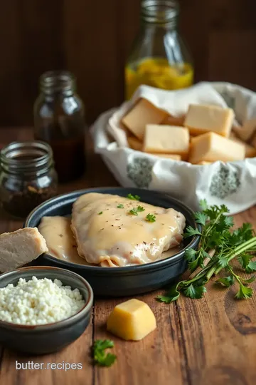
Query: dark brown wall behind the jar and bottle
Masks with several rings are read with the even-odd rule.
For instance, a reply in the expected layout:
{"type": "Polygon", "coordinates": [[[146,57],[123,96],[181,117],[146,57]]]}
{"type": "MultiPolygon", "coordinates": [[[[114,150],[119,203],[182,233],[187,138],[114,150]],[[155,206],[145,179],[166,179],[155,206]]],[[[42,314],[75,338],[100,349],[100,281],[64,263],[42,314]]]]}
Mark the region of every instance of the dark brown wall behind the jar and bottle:
{"type": "MultiPolygon", "coordinates": [[[[139,26],[139,0],[1,0],[0,125],[31,125],[38,76],[78,78],[87,121],[123,100],[123,68],[139,26]]],[[[256,0],[180,0],[180,30],[196,81],[256,91],[256,0]]]]}

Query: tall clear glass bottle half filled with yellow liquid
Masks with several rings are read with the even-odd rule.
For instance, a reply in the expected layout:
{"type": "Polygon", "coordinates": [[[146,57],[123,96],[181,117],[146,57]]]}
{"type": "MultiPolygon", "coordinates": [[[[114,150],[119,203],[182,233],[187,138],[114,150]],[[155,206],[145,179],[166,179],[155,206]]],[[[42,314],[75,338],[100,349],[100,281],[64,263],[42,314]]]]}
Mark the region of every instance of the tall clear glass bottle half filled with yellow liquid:
{"type": "Polygon", "coordinates": [[[165,90],[186,88],[193,83],[193,63],[177,30],[175,0],[144,0],[141,26],[125,66],[126,98],[145,84],[165,90]]]}

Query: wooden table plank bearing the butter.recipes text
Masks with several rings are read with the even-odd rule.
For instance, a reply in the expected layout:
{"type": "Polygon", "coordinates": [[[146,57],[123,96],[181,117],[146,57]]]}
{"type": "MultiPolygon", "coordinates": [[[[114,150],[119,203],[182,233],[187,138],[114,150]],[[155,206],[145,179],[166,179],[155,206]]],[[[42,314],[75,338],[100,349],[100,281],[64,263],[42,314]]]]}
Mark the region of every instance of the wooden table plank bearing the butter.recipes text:
{"type": "Polygon", "coordinates": [[[75,381],[78,385],[93,385],[94,369],[90,358],[91,344],[92,322],[79,339],[55,354],[24,356],[5,349],[1,362],[0,384],[70,385],[75,381]],[[41,364],[41,369],[33,369],[31,365],[28,366],[29,362],[41,364]],[[50,366],[51,364],[53,366],[50,366]],[[58,366],[55,367],[54,364],[58,366]],[[73,365],[74,369],[68,369],[70,367],[68,364],[76,364],[76,366],[73,365]],[[82,369],[75,369],[78,364],[82,366],[82,369]]]}

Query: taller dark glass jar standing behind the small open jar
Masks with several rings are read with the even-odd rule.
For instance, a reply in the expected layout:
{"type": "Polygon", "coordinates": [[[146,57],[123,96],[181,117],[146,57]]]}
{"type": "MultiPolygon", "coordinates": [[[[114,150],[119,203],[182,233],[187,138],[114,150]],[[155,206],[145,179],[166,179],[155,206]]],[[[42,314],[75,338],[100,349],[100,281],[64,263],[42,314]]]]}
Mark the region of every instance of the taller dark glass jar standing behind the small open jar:
{"type": "Polygon", "coordinates": [[[85,171],[84,106],[68,71],[49,71],[40,78],[34,105],[35,138],[53,148],[59,182],[79,178],[85,171]]]}

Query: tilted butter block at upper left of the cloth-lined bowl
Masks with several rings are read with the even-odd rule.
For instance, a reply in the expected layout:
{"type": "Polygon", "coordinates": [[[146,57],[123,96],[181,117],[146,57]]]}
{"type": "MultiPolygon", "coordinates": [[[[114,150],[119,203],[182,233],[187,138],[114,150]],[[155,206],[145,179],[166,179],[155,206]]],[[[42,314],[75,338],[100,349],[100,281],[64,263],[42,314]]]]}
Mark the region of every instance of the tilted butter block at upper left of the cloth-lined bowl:
{"type": "Polygon", "coordinates": [[[159,110],[146,99],[139,99],[135,106],[122,118],[121,123],[125,125],[138,139],[142,140],[146,124],[159,124],[167,113],[159,110]]]}

